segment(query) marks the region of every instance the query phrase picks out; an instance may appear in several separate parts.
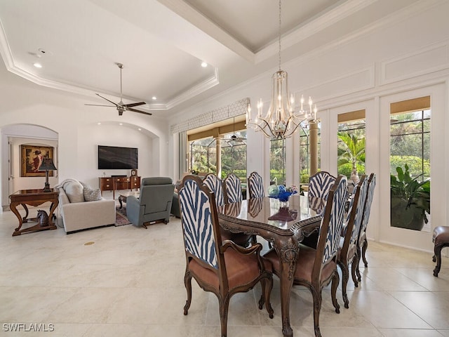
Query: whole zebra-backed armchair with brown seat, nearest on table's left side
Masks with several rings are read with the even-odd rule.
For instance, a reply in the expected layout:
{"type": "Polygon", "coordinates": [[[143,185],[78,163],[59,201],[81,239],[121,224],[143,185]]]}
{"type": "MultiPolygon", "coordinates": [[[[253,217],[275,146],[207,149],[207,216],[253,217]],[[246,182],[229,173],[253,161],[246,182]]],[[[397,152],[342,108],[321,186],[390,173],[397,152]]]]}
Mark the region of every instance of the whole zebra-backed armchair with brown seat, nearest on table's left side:
{"type": "MultiPolygon", "coordinates": [[[[231,241],[222,242],[217,206],[213,192],[200,178],[187,176],[179,191],[182,233],[185,245],[186,270],[184,283],[187,301],[184,315],[192,303],[192,277],[204,291],[215,293],[220,308],[221,336],[227,334],[229,300],[235,293],[247,292],[261,283],[263,304],[273,317],[269,296],[273,287],[272,273],[265,270],[261,244],[249,249],[231,241]]],[[[252,296],[252,295],[251,295],[252,296]]]]}

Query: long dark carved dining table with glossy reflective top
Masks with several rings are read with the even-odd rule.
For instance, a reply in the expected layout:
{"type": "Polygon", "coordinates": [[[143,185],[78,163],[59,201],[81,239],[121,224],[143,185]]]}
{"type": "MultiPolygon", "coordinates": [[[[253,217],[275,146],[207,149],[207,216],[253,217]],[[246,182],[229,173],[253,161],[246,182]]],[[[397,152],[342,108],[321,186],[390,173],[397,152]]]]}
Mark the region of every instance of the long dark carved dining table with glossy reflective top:
{"type": "Polygon", "coordinates": [[[290,292],[293,286],[300,242],[319,232],[326,201],[293,194],[288,204],[271,197],[246,199],[217,208],[220,226],[233,233],[259,235],[276,250],[279,274],[283,336],[293,336],[290,326],[290,292]]]}

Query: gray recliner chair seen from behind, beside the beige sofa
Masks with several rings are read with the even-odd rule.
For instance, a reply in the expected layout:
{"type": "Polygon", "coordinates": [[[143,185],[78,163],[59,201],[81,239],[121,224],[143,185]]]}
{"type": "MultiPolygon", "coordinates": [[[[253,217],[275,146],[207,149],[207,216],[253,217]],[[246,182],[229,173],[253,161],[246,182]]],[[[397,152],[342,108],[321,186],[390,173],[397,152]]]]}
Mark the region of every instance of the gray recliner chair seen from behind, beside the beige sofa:
{"type": "Polygon", "coordinates": [[[168,223],[174,190],[171,178],[143,178],[139,199],[130,195],[126,200],[126,216],[133,225],[145,228],[158,220],[168,223]]]}

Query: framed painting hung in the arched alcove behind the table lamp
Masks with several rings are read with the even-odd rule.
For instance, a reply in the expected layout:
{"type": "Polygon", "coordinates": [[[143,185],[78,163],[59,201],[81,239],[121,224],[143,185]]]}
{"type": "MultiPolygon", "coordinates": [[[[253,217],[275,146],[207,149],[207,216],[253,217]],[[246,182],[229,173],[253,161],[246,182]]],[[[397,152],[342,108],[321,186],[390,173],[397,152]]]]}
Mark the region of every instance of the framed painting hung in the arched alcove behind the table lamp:
{"type": "MultiPolygon", "coordinates": [[[[53,160],[53,147],[40,145],[20,145],[20,176],[45,177],[45,171],[39,171],[44,158],[53,160]]],[[[48,171],[53,177],[53,171],[48,171]]]]}

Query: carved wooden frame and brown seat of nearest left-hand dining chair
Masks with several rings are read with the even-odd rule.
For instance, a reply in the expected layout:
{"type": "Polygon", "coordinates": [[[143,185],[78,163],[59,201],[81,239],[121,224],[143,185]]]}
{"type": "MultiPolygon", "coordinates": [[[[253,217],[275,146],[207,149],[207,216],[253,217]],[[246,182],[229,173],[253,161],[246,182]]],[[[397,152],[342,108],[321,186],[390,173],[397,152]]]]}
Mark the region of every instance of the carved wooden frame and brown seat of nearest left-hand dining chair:
{"type": "MultiPolygon", "coordinates": [[[[227,315],[229,309],[229,300],[235,293],[241,293],[253,289],[255,284],[258,282],[262,285],[262,297],[259,300],[259,308],[262,309],[263,304],[269,313],[269,317],[273,318],[273,309],[269,302],[270,293],[273,287],[272,273],[265,270],[264,264],[262,263],[262,258],[260,257],[260,251],[262,249],[261,244],[254,244],[249,249],[245,249],[241,246],[234,244],[231,241],[222,242],[222,237],[220,234],[220,225],[218,223],[217,209],[215,204],[215,196],[213,192],[210,192],[208,187],[203,184],[200,178],[196,176],[187,176],[182,180],[182,185],[180,187],[180,209],[181,209],[181,221],[182,221],[182,232],[185,237],[185,256],[186,256],[186,270],[184,277],[184,284],[187,290],[187,301],[184,307],[184,315],[187,315],[192,303],[192,278],[196,280],[199,286],[205,290],[215,293],[218,298],[220,305],[220,323],[221,323],[221,336],[226,337],[227,335],[227,315]],[[193,180],[194,183],[187,183],[187,180],[193,180]],[[213,240],[215,243],[215,258],[217,261],[217,267],[213,267],[210,263],[199,258],[191,251],[188,251],[186,244],[186,232],[185,232],[185,222],[190,221],[188,215],[189,210],[184,209],[183,203],[187,203],[187,197],[185,198],[184,188],[185,185],[191,184],[198,186],[197,197],[207,196],[208,202],[210,204],[210,222],[213,228],[213,240]],[[187,212],[187,213],[185,213],[187,212]],[[233,252],[234,251],[234,252],[233,252]],[[235,258],[240,256],[239,258],[235,258]],[[248,258],[242,258],[242,256],[248,256],[248,258]],[[233,258],[234,257],[234,258],[233,258]],[[240,273],[235,272],[235,263],[239,261],[248,260],[248,265],[257,264],[258,275],[251,272],[248,276],[242,276],[240,273]],[[227,268],[227,263],[230,263],[227,268]],[[257,262],[256,262],[257,261],[257,262]],[[231,274],[229,274],[229,272],[231,274]],[[232,272],[237,273],[239,277],[234,277],[232,272]],[[255,277],[254,277],[254,275],[255,277]],[[234,280],[234,286],[230,286],[230,282],[234,280]],[[243,282],[243,283],[242,283],[243,282]]],[[[247,270],[247,269],[245,269],[247,270]]],[[[248,270],[255,270],[255,267],[248,268],[248,270]]],[[[248,271],[249,272],[249,271],[248,271]]]]}

